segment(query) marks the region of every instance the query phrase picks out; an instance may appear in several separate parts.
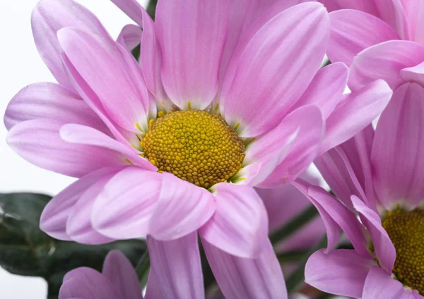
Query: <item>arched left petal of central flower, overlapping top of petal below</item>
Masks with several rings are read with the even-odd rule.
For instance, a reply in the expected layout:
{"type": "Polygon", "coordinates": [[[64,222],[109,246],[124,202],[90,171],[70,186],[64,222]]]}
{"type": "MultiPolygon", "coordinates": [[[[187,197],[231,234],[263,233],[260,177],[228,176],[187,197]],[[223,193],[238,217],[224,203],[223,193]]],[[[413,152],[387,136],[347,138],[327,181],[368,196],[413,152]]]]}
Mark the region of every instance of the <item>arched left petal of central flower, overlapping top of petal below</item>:
{"type": "Polygon", "coordinates": [[[80,123],[107,133],[107,127],[75,92],[56,83],[35,83],[24,87],[9,102],[4,114],[8,130],[30,119],[54,119],[80,123]]]}

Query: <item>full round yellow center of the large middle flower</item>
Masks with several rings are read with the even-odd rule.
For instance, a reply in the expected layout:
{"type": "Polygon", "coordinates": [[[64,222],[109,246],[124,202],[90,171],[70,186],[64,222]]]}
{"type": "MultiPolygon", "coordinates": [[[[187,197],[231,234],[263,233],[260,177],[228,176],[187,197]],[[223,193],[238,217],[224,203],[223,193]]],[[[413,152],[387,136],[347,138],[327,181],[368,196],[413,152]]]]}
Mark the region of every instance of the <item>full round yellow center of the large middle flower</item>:
{"type": "Polygon", "coordinates": [[[237,173],[245,145],[218,114],[173,111],[151,122],[141,141],[146,157],[160,171],[208,188],[237,173]]]}

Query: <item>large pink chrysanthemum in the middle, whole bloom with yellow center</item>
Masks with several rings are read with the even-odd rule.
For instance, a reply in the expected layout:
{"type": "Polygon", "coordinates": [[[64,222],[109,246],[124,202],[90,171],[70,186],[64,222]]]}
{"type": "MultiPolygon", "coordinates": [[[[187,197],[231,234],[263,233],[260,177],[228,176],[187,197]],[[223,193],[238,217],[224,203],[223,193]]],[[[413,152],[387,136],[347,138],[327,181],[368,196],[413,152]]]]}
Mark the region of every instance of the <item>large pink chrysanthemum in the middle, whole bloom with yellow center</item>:
{"type": "Polygon", "coordinates": [[[165,298],[204,298],[199,233],[225,296],[285,298],[252,187],[293,181],[365,128],[391,90],[377,80],[342,97],[346,66],[319,70],[322,4],[160,0],[153,23],[136,1],[114,2],[143,30],[129,25],[114,42],[71,0],[42,0],[33,13],[59,85],[12,99],[8,143],[79,178],[49,202],[42,229],[90,244],[147,235],[165,298]],[[137,40],[140,64],[126,49],[137,40]]]}

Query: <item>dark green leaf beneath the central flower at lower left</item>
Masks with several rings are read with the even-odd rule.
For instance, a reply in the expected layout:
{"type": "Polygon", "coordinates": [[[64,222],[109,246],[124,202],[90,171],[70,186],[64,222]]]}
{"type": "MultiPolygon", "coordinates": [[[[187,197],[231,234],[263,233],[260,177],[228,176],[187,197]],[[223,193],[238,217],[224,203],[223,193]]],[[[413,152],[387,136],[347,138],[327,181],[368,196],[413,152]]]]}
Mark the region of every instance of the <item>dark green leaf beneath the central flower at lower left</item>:
{"type": "Polygon", "coordinates": [[[133,265],[147,251],[141,240],[83,245],[47,236],[39,228],[39,219],[50,199],[33,193],[0,194],[0,266],[12,274],[43,277],[49,297],[57,298],[63,276],[71,269],[101,271],[110,250],[121,250],[133,265]]]}

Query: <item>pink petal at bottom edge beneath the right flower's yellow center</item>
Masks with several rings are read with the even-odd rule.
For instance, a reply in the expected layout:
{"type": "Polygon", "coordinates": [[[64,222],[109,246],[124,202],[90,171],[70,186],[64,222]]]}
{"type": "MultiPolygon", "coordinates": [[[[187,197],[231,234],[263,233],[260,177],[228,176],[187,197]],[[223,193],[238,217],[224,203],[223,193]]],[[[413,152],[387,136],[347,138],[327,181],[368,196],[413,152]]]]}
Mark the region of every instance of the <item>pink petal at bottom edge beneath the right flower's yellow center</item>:
{"type": "Polygon", "coordinates": [[[374,266],[365,279],[363,299],[415,299],[412,291],[406,290],[404,285],[391,278],[382,268],[374,266]]]}

